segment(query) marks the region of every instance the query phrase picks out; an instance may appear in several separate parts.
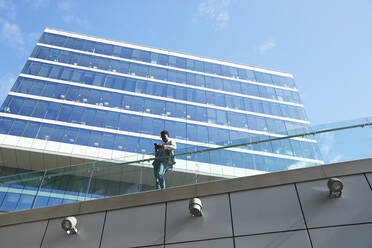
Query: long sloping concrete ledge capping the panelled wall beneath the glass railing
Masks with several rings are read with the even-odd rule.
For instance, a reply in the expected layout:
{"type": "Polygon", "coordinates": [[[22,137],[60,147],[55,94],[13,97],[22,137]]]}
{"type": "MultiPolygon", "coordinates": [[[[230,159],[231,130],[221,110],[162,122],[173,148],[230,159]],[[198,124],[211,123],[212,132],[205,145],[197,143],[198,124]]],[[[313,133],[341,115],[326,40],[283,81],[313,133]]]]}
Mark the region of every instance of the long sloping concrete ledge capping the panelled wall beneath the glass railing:
{"type": "Polygon", "coordinates": [[[0,214],[0,226],[368,172],[372,172],[372,159],[355,160],[0,214]]]}

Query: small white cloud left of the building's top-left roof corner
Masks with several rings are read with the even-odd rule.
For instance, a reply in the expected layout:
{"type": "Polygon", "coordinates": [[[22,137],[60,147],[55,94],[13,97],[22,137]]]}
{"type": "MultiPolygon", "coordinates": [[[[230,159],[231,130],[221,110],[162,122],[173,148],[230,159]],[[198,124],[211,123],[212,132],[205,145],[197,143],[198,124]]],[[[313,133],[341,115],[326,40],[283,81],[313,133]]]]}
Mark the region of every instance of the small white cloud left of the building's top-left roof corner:
{"type": "Polygon", "coordinates": [[[23,49],[25,41],[19,26],[4,20],[0,20],[0,24],[0,40],[11,46],[23,49]]]}

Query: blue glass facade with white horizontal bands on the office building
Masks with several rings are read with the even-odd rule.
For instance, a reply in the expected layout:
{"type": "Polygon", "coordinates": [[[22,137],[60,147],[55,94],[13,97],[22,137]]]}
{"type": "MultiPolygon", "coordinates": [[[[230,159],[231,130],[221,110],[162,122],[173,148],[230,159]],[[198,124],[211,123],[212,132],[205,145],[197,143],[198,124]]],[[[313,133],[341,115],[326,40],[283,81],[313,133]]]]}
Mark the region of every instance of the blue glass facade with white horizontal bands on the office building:
{"type": "MultiPolygon", "coordinates": [[[[2,135],[132,154],[152,154],[164,129],[176,139],[180,154],[290,135],[309,124],[289,74],[51,29],[42,34],[0,108],[2,135]]],[[[311,138],[194,154],[187,160],[264,172],[322,163],[311,138]]],[[[2,175],[19,172],[0,170],[2,175]]],[[[66,189],[67,177],[59,178],[61,185],[55,180],[3,185],[0,209],[99,198],[110,195],[101,192],[106,186],[112,188],[107,192],[138,187],[97,180],[101,193],[81,193],[66,189]]],[[[74,174],[71,187],[79,188],[87,178],[74,174]]]]}

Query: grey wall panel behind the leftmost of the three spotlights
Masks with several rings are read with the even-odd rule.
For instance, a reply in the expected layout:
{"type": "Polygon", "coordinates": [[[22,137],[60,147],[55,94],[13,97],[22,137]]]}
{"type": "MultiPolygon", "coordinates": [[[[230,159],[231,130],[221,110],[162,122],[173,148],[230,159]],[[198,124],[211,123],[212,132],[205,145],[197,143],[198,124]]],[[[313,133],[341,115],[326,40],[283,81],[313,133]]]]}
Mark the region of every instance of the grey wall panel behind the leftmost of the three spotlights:
{"type": "Polygon", "coordinates": [[[67,235],[61,228],[63,218],[49,221],[42,248],[94,248],[99,247],[105,213],[77,215],[77,235],[67,235]]]}

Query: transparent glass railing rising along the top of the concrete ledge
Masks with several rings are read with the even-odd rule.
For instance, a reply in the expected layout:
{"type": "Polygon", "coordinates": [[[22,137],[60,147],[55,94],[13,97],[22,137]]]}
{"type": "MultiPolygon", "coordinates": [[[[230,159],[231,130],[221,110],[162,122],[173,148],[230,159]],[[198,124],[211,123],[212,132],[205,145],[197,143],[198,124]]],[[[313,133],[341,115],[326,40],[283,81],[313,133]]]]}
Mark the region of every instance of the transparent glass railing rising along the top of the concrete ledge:
{"type": "MultiPolygon", "coordinates": [[[[221,143],[208,148],[193,146],[177,149],[177,163],[165,174],[166,186],[177,187],[370,158],[371,127],[372,119],[365,118],[292,130],[290,135],[270,139],[265,138],[267,136],[255,140],[243,138],[227,145],[221,143]],[[289,142],[296,140],[301,142],[289,142]],[[301,146],[306,143],[313,145],[292,149],[298,154],[288,152],[288,144],[301,146]],[[267,154],[271,156],[265,156],[267,154]],[[211,163],[212,158],[218,163],[211,163]]],[[[141,154],[0,177],[0,211],[25,210],[155,190],[154,159],[151,154],[141,154]]]]}

